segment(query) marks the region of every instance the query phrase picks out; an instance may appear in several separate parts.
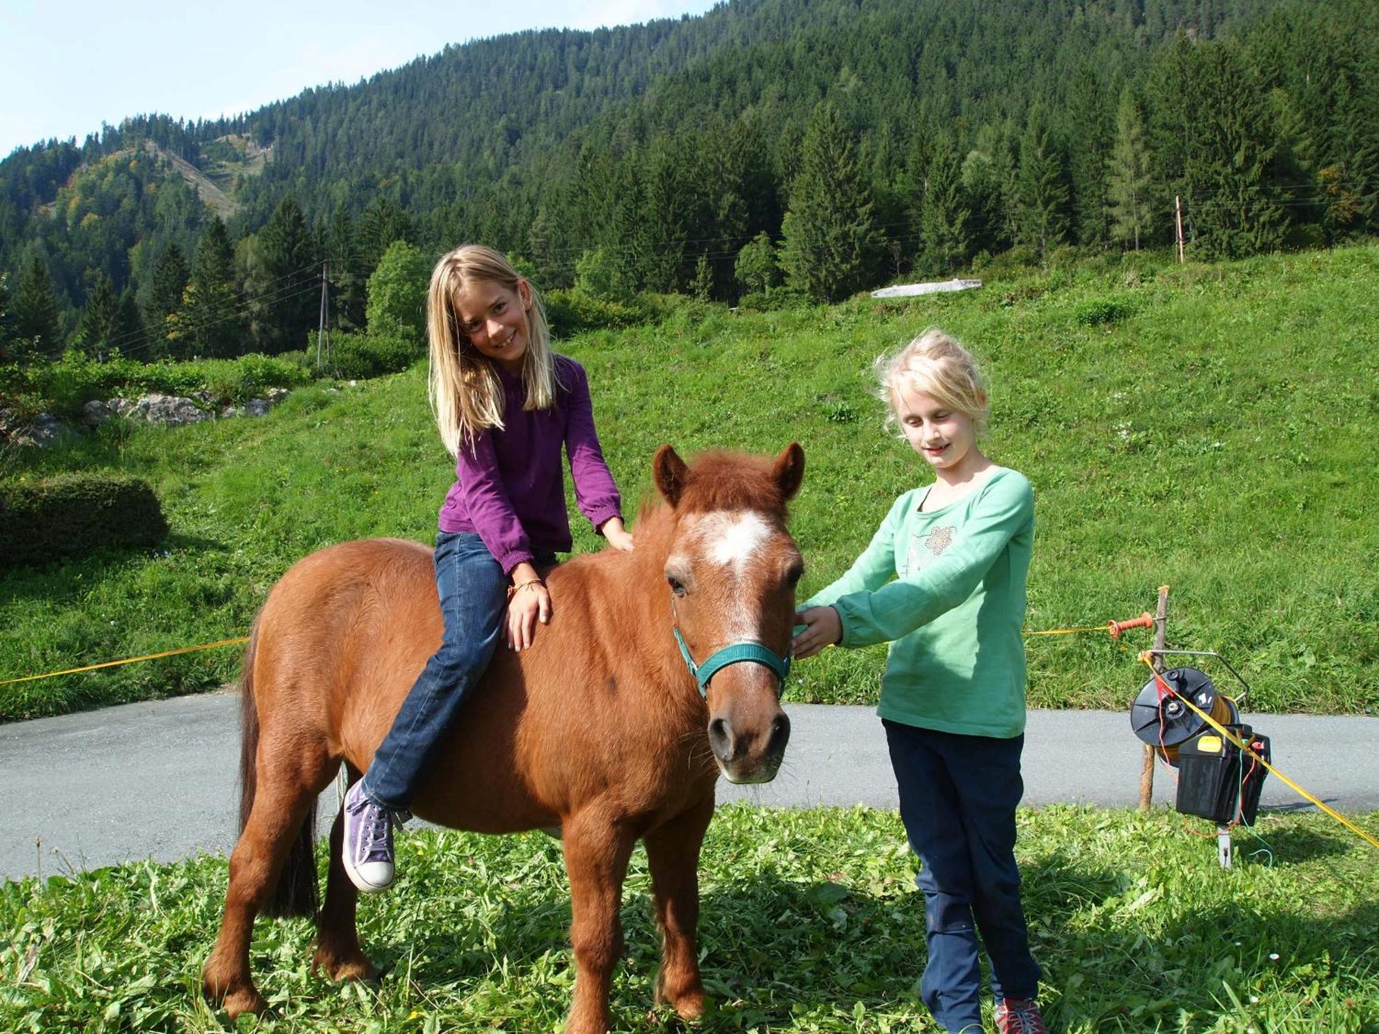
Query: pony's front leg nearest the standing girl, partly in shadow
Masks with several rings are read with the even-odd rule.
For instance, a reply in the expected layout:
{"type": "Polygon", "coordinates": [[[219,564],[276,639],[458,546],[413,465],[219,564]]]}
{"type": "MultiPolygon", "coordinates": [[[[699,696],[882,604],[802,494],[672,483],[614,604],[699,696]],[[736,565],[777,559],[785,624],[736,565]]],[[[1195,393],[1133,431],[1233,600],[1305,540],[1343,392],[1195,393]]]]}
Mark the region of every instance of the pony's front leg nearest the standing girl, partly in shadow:
{"type": "Polygon", "coordinates": [[[669,1002],[681,1019],[703,1015],[699,979],[699,848],[713,818],[713,793],[643,837],[661,926],[661,972],[656,1001],[669,1002]]]}

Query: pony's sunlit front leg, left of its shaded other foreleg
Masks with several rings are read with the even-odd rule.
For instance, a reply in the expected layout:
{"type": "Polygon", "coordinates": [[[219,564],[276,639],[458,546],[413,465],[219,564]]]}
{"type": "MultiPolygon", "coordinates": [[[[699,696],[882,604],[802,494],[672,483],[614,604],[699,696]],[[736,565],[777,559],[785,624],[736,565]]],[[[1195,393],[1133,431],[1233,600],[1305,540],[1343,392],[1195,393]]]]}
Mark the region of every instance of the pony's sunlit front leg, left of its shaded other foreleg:
{"type": "Polygon", "coordinates": [[[608,986],[623,949],[622,881],[636,837],[598,807],[565,819],[564,833],[575,950],[575,1000],[565,1034],[605,1034],[608,986]]]}

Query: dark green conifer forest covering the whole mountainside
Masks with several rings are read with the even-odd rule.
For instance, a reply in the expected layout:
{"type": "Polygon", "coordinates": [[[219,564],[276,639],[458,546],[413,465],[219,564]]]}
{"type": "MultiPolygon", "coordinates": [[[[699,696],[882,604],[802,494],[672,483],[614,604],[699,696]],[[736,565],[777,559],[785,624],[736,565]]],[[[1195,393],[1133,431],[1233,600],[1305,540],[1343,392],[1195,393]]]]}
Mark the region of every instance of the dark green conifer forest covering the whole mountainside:
{"type": "Polygon", "coordinates": [[[1379,7],[734,0],[131,117],[0,161],[0,356],[302,349],[323,265],[332,325],[361,328],[397,240],[611,299],[837,301],[1164,247],[1178,197],[1197,259],[1379,230],[1379,7]]]}

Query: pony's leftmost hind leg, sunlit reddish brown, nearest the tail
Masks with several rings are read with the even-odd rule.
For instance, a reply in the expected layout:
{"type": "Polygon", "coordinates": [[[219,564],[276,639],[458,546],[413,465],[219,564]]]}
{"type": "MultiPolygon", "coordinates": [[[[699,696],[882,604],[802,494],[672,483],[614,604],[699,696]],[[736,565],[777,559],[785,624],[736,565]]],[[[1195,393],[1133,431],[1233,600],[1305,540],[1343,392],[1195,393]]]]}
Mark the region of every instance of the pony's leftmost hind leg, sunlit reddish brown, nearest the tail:
{"type": "MultiPolygon", "coordinates": [[[[279,878],[288,863],[314,864],[310,844],[314,830],[303,824],[314,815],[316,797],[335,771],[324,749],[303,753],[299,744],[281,740],[276,747],[259,742],[254,802],[240,840],[230,853],[230,882],[225,892],[221,933],[201,968],[207,998],[222,1002],[230,1019],[243,1012],[263,1012],[268,1001],[254,986],[250,971],[250,940],[254,918],[266,906],[277,904],[279,878]]],[[[310,915],[313,900],[295,900],[291,914],[310,915]]]]}

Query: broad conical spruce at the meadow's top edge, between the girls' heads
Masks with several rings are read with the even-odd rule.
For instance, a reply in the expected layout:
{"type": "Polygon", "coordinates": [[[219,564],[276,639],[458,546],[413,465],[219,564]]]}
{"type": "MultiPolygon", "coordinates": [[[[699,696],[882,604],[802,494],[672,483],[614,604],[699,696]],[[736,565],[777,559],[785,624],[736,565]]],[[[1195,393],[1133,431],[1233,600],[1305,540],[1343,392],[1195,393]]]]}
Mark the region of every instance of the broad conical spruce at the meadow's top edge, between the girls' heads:
{"type": "Polygon", "coordinates": [[[872,196],[858,170],[852,135],[837,109],[821,102],[809,119],[800,174],[782,223],[782,265],[815,301],[836,302],[863,287],[883,256],[872,196]]]}

